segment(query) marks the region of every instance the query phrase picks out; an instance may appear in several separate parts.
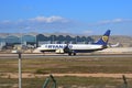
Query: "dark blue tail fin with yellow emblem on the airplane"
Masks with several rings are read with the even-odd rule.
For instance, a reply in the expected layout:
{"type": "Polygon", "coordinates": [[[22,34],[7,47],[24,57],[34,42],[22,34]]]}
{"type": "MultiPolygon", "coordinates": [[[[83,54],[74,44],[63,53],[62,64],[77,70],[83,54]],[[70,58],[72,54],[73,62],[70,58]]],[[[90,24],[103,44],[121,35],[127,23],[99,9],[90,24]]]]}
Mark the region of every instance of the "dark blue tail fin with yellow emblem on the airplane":
{"type": "Polygon", "coordinates": [[[99,41],[98,41],[96,44],[107,46],[108,41],[109,41],[109,36],[110,36],[110,30],[108,30],[108,31],[101,36],[101,38],[99,38],[99,41]]]}

